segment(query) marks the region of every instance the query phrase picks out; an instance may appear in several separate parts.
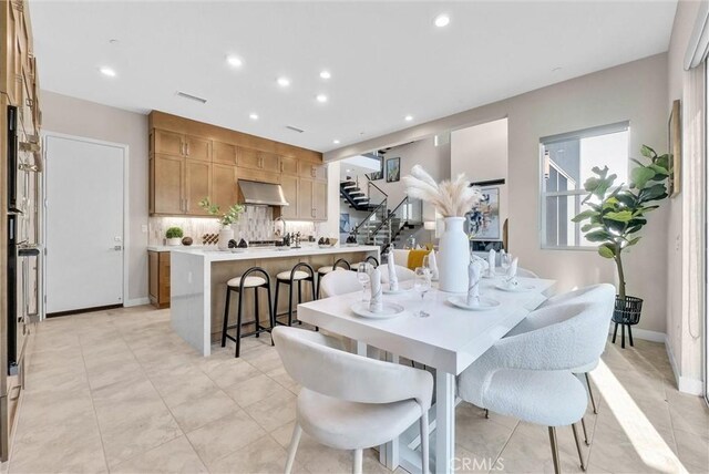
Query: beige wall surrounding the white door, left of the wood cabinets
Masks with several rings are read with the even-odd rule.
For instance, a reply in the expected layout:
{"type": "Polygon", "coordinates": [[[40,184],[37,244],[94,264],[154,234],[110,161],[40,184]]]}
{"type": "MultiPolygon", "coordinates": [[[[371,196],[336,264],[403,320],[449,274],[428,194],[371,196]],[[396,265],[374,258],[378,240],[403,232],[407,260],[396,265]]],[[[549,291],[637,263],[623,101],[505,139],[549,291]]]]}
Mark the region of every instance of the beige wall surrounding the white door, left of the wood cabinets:
{"type": "MultiPolygon", "coordinates": [[[[125,223],[127,296],[125,303],[147,302],[147,115],[42,91],[42,128],[129,145],[129,209],[125,223]]],[[[85,178],[91,177],[86,171],[85,178]]]]}

